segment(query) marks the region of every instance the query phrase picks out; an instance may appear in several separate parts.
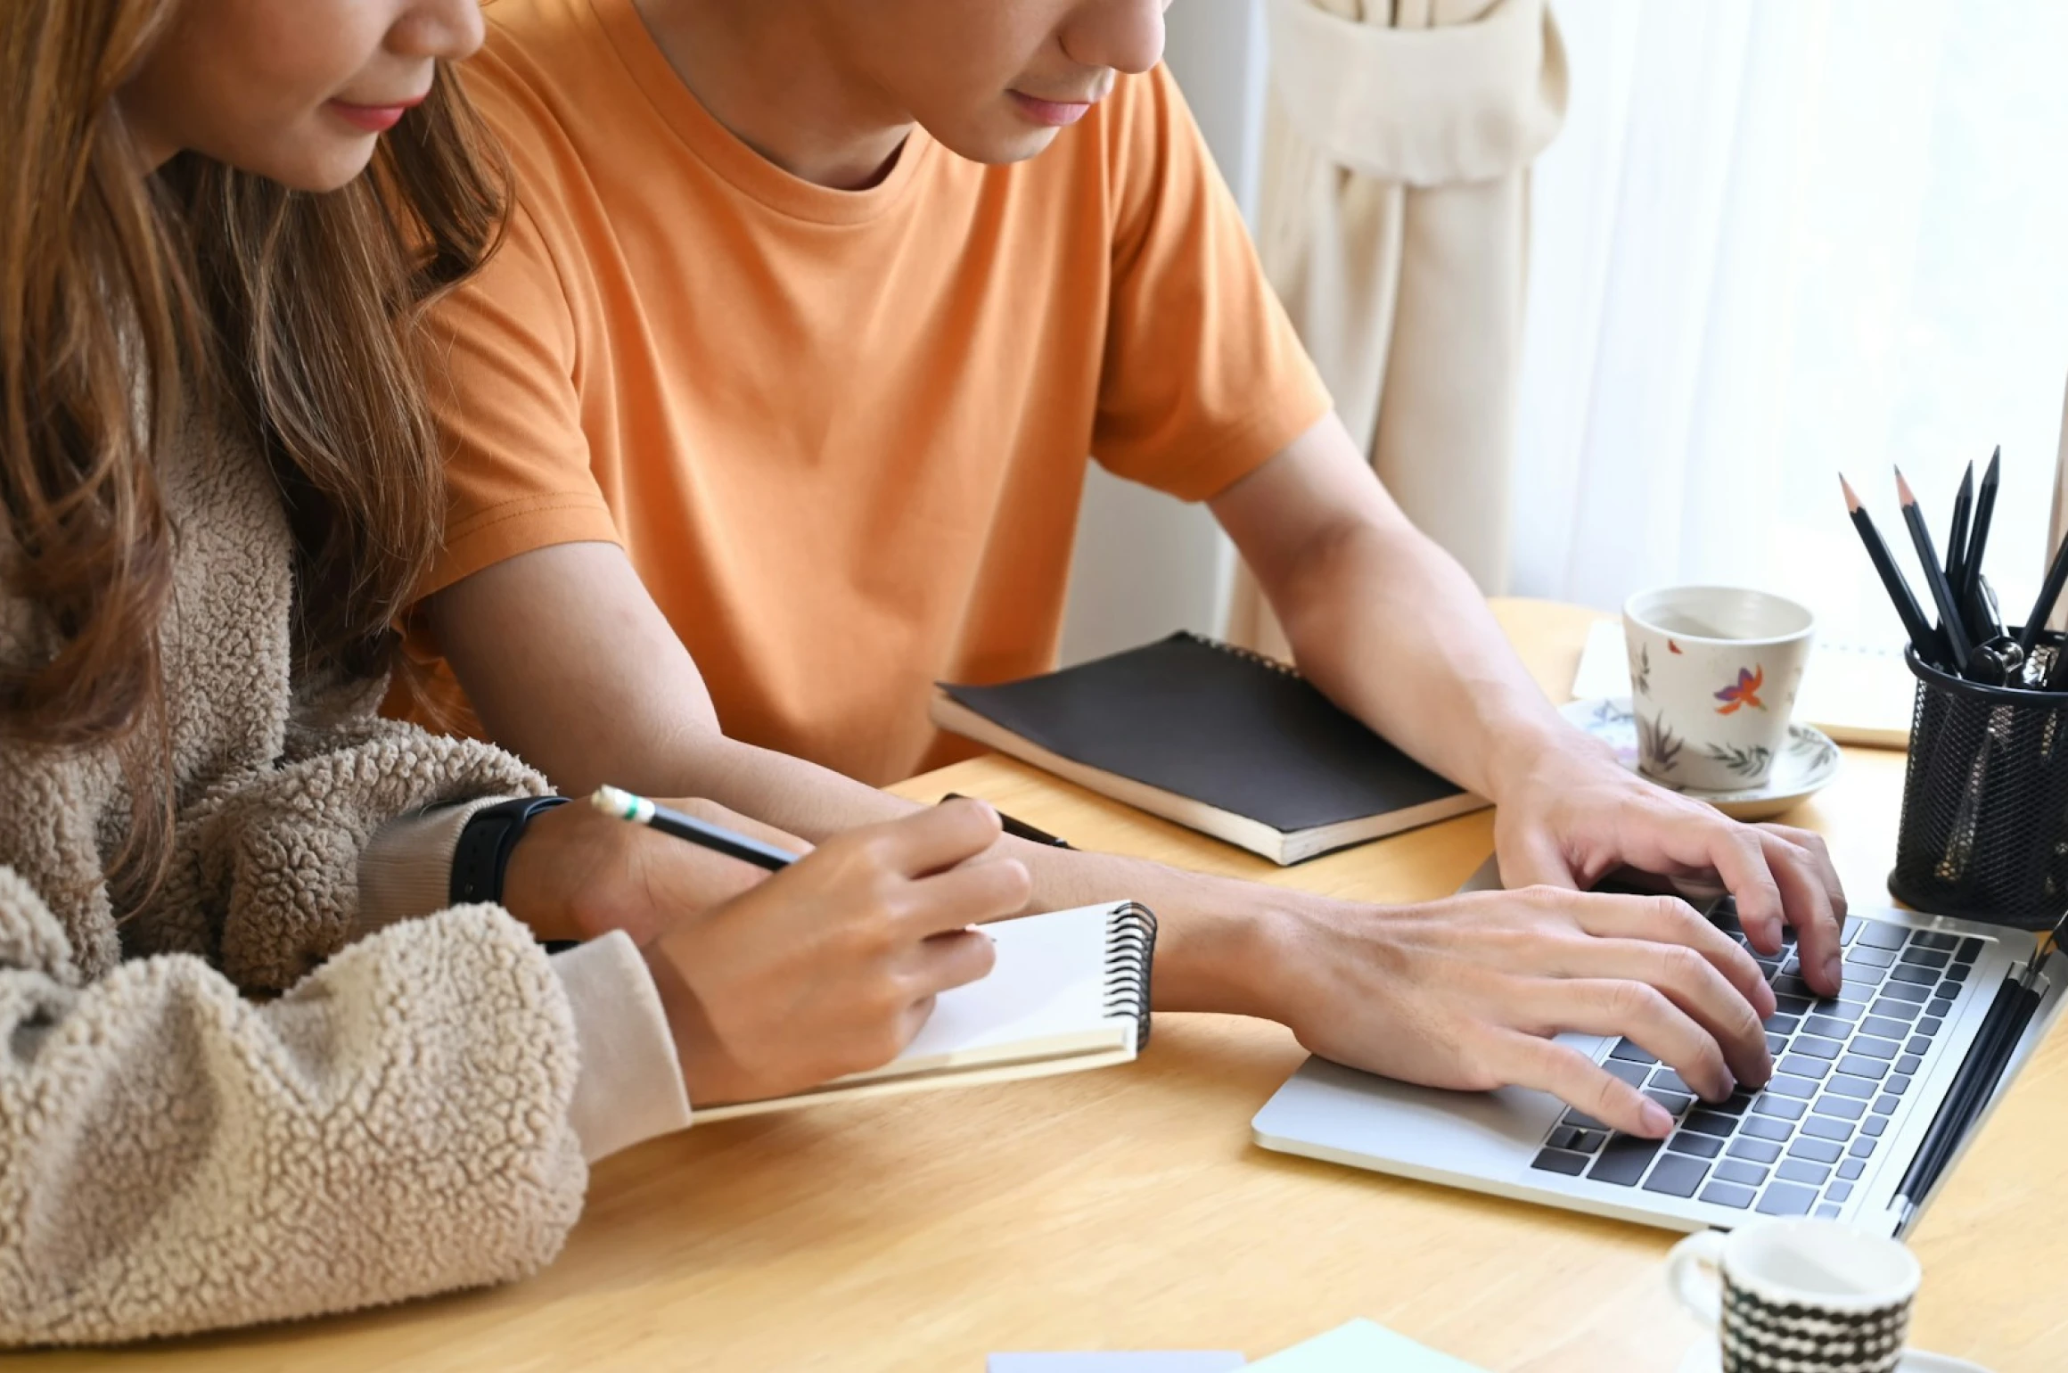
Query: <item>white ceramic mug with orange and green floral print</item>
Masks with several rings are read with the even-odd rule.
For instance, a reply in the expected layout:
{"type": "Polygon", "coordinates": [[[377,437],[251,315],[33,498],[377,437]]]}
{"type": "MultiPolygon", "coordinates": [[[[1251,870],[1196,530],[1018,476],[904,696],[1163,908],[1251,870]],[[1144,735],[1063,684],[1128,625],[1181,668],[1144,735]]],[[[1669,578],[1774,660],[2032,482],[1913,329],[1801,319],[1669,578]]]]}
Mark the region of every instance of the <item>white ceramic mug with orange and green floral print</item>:
{"type": "Polygon", "coordinates": [[[1663,587],[1623,604],[1638,767],[1702,792],[1764,786],[1787,744],[1816,616],[1743,587],[1663,587]]]}

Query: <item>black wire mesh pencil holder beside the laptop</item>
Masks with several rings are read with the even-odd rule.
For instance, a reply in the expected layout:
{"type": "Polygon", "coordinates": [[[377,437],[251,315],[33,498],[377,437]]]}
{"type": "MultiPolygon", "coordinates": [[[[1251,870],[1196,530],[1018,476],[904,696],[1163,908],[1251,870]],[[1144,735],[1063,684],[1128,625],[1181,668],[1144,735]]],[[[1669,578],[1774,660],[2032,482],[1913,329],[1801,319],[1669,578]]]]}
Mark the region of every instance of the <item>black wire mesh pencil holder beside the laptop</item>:
{"type": "Polygon", "coordinates": [[[1936,916],[2051,928],[2068,908],[2068,693],[1903,660],[1917,709],[1888,889],[1936,916]]]}

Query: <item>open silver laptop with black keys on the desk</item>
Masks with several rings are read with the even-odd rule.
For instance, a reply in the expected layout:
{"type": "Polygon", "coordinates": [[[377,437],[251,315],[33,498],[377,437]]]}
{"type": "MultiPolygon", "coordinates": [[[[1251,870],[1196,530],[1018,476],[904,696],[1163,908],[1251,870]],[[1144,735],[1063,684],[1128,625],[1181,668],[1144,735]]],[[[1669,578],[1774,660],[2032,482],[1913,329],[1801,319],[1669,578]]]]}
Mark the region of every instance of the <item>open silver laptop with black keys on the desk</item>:
{"type": "Polygon", "coordinates": [[[1781,1007],[1764,1090],[1708,1104],[1628,1040],[1559,1036],[1667,1106],[1665,1141],[1545,1092],[1441,1092],[1324,1059],[1251,1133],[1284,1154],[1673,1230],[1824,1216],[1903,1234],[2051,1026],[2068,976],[2025,976],[2031,933],[1872,910],[1845,920],[1845,993],[1824,1001],[1797,976],[1793,930],[1766,957],[1729,897],[1706,914],[1760,959],[1781,1007]]]}

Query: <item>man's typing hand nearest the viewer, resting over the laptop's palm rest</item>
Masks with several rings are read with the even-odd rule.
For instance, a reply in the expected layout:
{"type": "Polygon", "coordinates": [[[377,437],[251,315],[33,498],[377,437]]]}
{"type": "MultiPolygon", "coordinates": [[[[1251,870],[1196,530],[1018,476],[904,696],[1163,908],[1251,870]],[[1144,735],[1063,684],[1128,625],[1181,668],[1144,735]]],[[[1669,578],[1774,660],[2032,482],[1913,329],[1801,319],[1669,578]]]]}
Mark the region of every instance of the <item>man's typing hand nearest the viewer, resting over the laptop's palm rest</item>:
{"type": "Polygon", "coordinates": [[[1524,887],[1282,914],[1268,941],[1272,1015],[1348,1067],[1466,1092],[1539,1088],[1648,1137],[1673,1117],[1551,1036],[1625,1036],[1706,1100],[1772,1075],[1760,1024],[1772,988],[1679,897],[1524,887]]]}

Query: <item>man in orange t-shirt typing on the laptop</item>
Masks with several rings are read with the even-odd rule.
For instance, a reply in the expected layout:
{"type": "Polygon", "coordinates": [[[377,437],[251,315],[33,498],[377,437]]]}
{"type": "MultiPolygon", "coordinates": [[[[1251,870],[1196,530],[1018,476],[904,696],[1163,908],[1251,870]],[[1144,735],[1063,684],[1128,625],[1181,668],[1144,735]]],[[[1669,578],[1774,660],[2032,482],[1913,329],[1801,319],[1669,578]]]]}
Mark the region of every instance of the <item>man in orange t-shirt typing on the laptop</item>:
{"type": "MultiPolygon", "coordinates": [[[[467,85],[517,203],[436,321],[453,511],[416,655],[562,788],[821,837],[906,808],[862,784],[960,755],[931,682],[1053,666],[1096,457],[1212,502],[1301,668],[1499,802],[1510,885],[1721,877],[1834,988],[1814,835],[1636,782],[1561,724],[1361,461],[1158,66],[1162,8],[492,0],[467,85]]],[[[1710,1096],[1770,1071],[1758,966],[1677,902],[1375,918],[1005,848],[1036,908],[1158,910],[1160,1007],[1272,1015],[1375,1071],[1652,1135],[1656,1104],[1547,1036],[1630,1034],[1710,1096]]]]}

